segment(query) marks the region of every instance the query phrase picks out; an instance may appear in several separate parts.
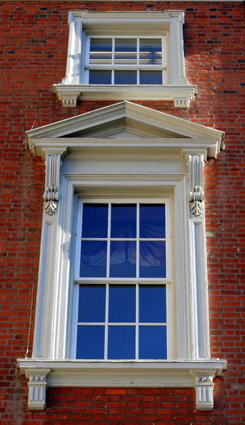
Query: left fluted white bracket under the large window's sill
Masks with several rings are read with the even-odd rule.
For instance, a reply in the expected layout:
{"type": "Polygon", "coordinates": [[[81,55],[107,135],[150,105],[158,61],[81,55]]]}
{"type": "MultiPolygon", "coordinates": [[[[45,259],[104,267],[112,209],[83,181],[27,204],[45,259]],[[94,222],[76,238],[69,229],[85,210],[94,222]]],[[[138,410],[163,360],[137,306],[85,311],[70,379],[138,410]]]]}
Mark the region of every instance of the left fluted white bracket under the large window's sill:
{"type": "Polygon", "coordinates": [[[28,407],[30,410],[42,410],[46,405],[47,374],[51,369],[25,370],[28,382],[28,407]]]}

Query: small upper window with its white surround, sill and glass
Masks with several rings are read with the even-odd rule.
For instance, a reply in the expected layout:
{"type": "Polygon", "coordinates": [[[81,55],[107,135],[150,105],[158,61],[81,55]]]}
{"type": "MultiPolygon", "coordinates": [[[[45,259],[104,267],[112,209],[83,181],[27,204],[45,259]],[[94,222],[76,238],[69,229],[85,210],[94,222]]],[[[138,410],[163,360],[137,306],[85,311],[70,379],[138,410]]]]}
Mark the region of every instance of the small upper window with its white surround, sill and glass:
{"type": "Polygon", "coordinates": [[[80,100],[169,100],[188,107],[183,11],[69,13],[67,73],[53,89],[80,100]],[[144,86],[144,90],[142,90],[144,86]]]}

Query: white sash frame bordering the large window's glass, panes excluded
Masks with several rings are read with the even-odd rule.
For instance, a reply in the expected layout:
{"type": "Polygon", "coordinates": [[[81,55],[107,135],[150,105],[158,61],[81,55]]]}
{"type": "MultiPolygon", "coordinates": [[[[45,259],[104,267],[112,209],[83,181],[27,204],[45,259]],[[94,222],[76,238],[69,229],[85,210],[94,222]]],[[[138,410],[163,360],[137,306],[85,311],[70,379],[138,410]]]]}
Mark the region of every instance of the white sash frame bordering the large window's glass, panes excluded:
{"type": "MultiPolygon", "coordinates": [[[[167,348],[167,358],[172,358],[172,341],[173,341],[173,335],[171,334],[171,322],[172,322],[172,312],[171,312],[171,305],[173,304],[172,295],[171,295],[171,231],[170,231],[170,205],[169,205],[169,199],[164,198],[135,198],[135,199],[118,199],[118,198],[99,198],[99,199],[86,199],[86,198],[79,198],[78,200],[78,210],[77,210],[77,220],[76,220],[76,249],[75,249],[75,259],[72,261],[75,264],[74,268],[74,297],[73,297],[73,307],[72,307],[72,343],[71,343],[71,353],[70,358],[76,359],[76,334],[77,334],[77,326],[78,326],[78,309],[79,309],[79,285],[82,283],[91,284],[91,283],[104,283],[106,285],[110,284],[120,284],[120,285],[135,285],[136,288],[138,288],[138,285],[141,284],[160,284],[166,286],[166,348],[167,348]],[[80,264],[80,256],[81,256],[81,223],[82,223],[82,205],[83,203],[108,203],[110,205],[111,203],[127,203],[127,204],[137,204],[137,208],[139,208],[139,203],[151,203],[151,204],[164,204],[165,205],[165,222],[166,222],[166,237],[164,240],[166,241],[166,278],[80,278],[79,277],[79,264],[80,264]]],[[[139,220],[139,212],[137,212],[137,220],[139,220]]],[[[110,238],[107,238],[108,242],[110,242],[110,238]]],[[[139,240],[139,235],[137,235],[135,240],[139,240]]],[[[152,240],[152,239],[147,239],[152,240]]],[[[162,239],[156,239],[156,240],[162,240],[162,239]]],[[[137,246],[137,250],[139,249],[139,246],[137,246]]],[[[109,252],[109,251],[108,251],[109,252]]],[[[139,256],[139,253],[137,254],[139,256]]],[[[107,264],[109,266],[109,257],[107,257],[107,264]]],[[[139,272],[139,271],[137,271],[139,272]]],[[[138,273],[137,273],[138,274],[138,273]]],[[[107,306],[108,307],[108,306],[107,306]]],[[[137,305],[137,311],[138,311],[138,305],[137,305]]],[[[136,312],[137,312],[136,311],[136,312]]],[[[108,326],[108,319],[106,319],[106,324],[108,326]]],[[[122,324],[119,324],[122,325],[122,324]]],[[[125,324],[126,325],[126,324],[125,324]]],[[[128,325],[128,324],[127,324],[128,325]]],[[[145,324],[144,324],[145,325],[145,324]]],[[[138,320],[136,319],[136,329],[139,326],[138,320]]],[[[149,323],[149,326],[152,326],[152,323],[149,323]]],[[[107,345],[107,333],[105,334],[105,344],[107,345]]],[[[138,335],[136,334],[136,338],[138,338],[138,335]]],[[[137,351],[135,351],[136,359],[139,360],[139,356],[137,351]]],[[[105,359],[107,360],[107,358],[105,359]]],[[[134,359],[133,359],[134,360],[134,359]]]]}

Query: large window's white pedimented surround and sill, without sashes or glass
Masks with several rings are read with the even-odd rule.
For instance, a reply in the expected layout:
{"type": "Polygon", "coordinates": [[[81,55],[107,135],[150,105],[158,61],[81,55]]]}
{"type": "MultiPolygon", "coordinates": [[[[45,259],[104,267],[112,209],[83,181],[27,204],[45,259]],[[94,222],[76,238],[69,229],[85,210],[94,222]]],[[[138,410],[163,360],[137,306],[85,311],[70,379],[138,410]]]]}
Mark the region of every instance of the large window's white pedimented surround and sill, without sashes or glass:
{"type": "Polygon", "coordinates": [[[45,407],[47,385],[152,386],[195,387],[196,408],[211,410],[212,380],[222,375],[227,363],[210,359],[203,166],[207,156],[216,157],[224,148],[224,133],[121,102],[27,135],[30,149],[46,163],[33,356],[18,359],[21,373],[29,378],[29,407],[45,407]],[[125,119],[128,130],[123,138],[118,119],[125,119]],[[168,360],[71,358],[79,196],[169,199],[171,258],[176,260],[168,360]]]}

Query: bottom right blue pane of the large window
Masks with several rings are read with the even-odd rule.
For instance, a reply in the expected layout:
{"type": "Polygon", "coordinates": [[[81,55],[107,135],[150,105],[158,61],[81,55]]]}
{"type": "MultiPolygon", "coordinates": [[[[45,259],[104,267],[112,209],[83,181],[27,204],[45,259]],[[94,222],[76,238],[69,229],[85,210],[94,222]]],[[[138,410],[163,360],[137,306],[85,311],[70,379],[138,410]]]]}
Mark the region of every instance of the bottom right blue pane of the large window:
{"type": "Polygon", "coordinates": [[[139,326],[139,358],[167,358],[165,326],[139,326]]]}

